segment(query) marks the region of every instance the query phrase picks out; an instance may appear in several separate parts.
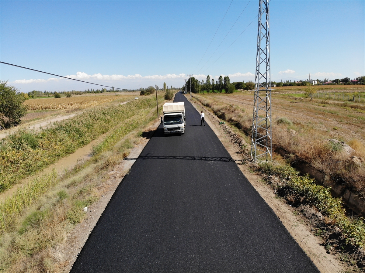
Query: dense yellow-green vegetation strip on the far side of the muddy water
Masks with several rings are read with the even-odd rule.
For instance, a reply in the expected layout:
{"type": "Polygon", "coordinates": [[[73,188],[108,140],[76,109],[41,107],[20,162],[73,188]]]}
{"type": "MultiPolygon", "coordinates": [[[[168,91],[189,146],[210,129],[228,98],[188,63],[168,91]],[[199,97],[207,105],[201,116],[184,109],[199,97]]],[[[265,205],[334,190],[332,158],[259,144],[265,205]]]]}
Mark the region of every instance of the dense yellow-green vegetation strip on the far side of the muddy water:
{"type": "Polygon", "coordinates": [[[0,192],[154,104],[155,97],[149,96],[125,105],[100,106],[38,132],[20,129],[9,135],[0,141],[0,192]]]}

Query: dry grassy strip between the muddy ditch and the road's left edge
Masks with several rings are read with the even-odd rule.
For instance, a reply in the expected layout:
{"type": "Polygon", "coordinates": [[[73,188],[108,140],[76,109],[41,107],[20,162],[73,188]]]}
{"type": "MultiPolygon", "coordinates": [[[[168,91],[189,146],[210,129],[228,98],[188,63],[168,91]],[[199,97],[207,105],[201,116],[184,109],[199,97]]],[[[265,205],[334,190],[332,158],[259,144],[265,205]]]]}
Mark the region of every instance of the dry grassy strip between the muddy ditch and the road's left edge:
{"type": "MultiPolygon", "coordinates": [[[[159,95],[161,102],[162,95],[159,95]]],[[[108,190],[105,184],[108,173],[138,141],[141,131],[136,130],[155,120],[153,95],[115,107],[119,111],[124,108],[124,116],[93,148],[90,160],[63,175],[46,173],[0,203],[0,271],[62,272],[66,268],[67,234],[85,218],[82,208],[108,190]],[[128,135],[132,131],[135,133],[128,135]]],[[[115,115],[119,112],[114,107],[110,111],[115,115]]],[[[85,127],[78,129],[88,125],[84,123],[85,127]]],[[[75,126],[68,124],[69,128],[75,126]]]]}

